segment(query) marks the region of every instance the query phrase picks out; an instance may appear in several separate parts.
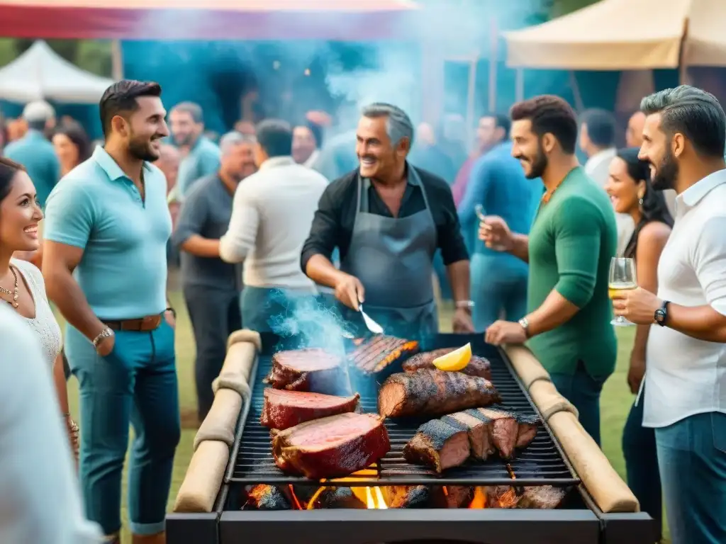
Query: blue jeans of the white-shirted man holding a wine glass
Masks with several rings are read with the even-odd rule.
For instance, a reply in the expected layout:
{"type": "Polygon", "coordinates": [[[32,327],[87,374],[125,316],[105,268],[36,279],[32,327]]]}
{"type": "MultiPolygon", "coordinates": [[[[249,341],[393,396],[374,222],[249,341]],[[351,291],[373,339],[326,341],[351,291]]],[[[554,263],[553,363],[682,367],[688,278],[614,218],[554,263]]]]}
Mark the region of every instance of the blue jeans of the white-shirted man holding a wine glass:
{"type": "Polygon", "coordinates": [[[726,543],[726,413],[656,429],[673,544],[726,543]]]}

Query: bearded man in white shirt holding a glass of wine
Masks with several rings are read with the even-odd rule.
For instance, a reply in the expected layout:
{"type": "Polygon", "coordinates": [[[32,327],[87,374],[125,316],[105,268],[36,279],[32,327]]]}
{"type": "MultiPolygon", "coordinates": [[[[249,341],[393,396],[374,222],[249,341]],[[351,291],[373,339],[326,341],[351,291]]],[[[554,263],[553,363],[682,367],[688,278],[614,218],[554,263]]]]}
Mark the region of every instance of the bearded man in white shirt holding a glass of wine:
{"type": "Polygon", "coordinates": [[[653,189],[675,189],[658,294],[621,291],[615,313],[653,323],[643,425],[655,427],[673,544],[726,543],[726,115],[690,86],[646,96],[653,189]]]}

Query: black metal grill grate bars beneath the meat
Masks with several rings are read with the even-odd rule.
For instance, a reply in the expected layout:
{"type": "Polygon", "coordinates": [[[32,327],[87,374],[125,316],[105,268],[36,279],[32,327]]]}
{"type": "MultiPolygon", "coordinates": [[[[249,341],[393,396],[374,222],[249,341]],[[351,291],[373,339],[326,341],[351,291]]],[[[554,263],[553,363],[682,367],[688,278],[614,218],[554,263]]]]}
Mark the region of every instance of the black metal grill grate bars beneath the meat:
{"type": "MultiPolygon", "coordinates": [[[[510,363],[499,350],[484,343],[481,335],[439,334],[428,342],[426,350],[438,347],[458,347],[471,342],[475,355],[486,357],[492,363],[492,382],[502,395],[502,404],[519,413],[535,413],[534,406],[526,395],[510,363]]],[[[258,357],[256,378],[249,411],[240,432],[237,432],[234,468],[229,482],[244,485],[265,483],[270,485],[310,483],[304,477],[285,474],[277,469],[272,458],[269,430],[259,423],[263,403],[261,383],[272,368],[272,353],[277,341],[274,337],[263,337],[264,350],[258,357]],[[267,342],[265,342],[267,340],[267,342]]],[[[377,398],[361,397],[360,403],[367,413],[377,411],[377,398]]],[[[430,418],[431,419],[431,418],[430,418]]],[[[425,421],[425,420],[423,420],[425,421]]],[[[341,485],[575,485],[569,463],[550,434],[547,426],[540,426],[537,437],[528,448],[519,450],[509,462],[516,479],[507,471],[505,461],[492,456],[487,461],[468,461],[463,466],[447,469],[443,475],[422,465],[405,461],[404,445],[413,437],[423,421],[386,419],[386,429],[391,440],[391,451],[378,463],[378,474],[368,471],[364,477],[356,477],[341,485]]]]}

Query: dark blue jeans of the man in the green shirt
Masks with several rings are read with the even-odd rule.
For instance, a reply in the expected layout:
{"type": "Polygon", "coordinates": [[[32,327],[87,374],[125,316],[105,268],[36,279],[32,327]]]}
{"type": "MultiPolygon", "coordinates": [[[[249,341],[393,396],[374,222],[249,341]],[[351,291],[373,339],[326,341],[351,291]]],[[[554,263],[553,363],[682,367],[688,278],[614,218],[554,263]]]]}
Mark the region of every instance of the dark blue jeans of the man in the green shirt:
{"type": "Polygon", "coordinates": [[[574,374],[550,374],[560,395],[579,412],[579,421],[592,440],[600,445],[600,393],[608,376],[590,376],[579,361],[574,374]]]}

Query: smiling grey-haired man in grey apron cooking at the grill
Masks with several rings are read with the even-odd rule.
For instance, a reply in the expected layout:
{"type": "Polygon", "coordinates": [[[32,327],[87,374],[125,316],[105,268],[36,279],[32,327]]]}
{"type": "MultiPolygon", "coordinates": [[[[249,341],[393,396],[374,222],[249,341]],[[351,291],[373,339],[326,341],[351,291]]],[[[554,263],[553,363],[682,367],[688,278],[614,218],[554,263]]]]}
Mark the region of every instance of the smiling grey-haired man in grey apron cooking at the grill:
{"type": "Polygon", "coordinates": [[[360,167],[327,187],[303,271],[335,289],[344,315],[363,331],[359,305],[386,334],[429,337],[439,330],[433,255],[441,248],[457,309],[454,331],[473,331],[469,257],[451,189],[406,161],[413,139],[408,115],[390,104],[363,111],[357,131],[360,167]],[[340,270],[330,255],[340,249],[340,270]]]}

